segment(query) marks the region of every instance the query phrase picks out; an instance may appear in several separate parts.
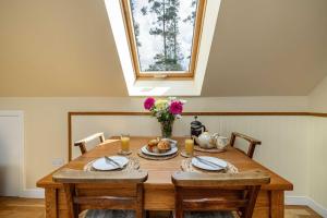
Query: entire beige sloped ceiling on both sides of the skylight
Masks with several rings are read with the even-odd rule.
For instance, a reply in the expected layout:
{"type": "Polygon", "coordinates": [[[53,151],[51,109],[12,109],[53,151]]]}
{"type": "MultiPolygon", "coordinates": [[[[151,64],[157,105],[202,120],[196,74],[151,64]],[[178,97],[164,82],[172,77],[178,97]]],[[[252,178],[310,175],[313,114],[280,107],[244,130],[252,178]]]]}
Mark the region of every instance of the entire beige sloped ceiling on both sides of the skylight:
{"type": "MultiPolygon", "coordinates": [[[[307,95],[326,0],[222,0],[203,96],[307,95]]],[[[102,0],[0,1],[0,96],[126,96],[102,0]]]]}

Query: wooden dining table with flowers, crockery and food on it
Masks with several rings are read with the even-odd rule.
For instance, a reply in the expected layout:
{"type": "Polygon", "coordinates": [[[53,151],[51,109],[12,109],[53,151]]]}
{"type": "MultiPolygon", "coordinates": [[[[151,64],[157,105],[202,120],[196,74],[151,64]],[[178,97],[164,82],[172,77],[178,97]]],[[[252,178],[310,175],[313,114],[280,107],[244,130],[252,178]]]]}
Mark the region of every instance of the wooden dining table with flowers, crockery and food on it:
{"type": "MultiPolygon", "coordinates": [[[[185,101],[177,98],[147,98],[144,108],[158,120],[161,134],[153,136],[131,136],[122,133],[95,146],[64,168],[85,171],[134,171],[148,172],[145,182],[144,208],[147,210],[171,210],[174,208],[174,187],[171,177],[177,171],[206,173],[238,173],[247,170],[267,171],[271,175],[270,184],[261,191],[259,216],[278,217],[270,211],[282,209],[284,191],[293,189],[292,183],[269,171],[264,166],[229,146],[229,138],[209,132],[203,123],[195,120],[184,136],[173,136],[173,123],[181,119],[185,101]],[[237,164],[237,165],[234,165],[237,164]]],[[[52,180],[52,172],[37,182],[46,190],[46,202],[59,208],[65,203],[62,186],[52,180]]],[[[101,192],[96,190],[95,192],[101,192]]],[[[50,217],[58,209],[48,210],[50,217]]],[[[66,208],[60,208],[65,213],[66,208]]],[[[65,217],[65,216],[63,216],[65,217]]]]}

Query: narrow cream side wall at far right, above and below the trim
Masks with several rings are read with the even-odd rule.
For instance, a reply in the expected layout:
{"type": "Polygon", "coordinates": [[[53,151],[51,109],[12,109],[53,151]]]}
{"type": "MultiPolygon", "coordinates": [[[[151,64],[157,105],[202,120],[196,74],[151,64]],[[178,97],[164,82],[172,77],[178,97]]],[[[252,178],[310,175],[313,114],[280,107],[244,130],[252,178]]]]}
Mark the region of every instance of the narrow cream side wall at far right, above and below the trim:
{"type": "MultiPolygon", "coordinates": [[[[327,112],[327,77],[308,96],[311,111],[327,112]]],[[[311,119],[310,196],[327,208],[327,118],[311,119]]]]}

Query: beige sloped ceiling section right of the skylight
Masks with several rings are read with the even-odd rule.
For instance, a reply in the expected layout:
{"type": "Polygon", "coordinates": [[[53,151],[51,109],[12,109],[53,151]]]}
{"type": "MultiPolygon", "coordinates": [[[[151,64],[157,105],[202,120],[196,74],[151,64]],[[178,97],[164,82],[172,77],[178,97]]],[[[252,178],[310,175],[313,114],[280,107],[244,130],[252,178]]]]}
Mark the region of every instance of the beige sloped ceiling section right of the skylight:
{"type": "Polygon", "coordinates": [[[203,95],[307,95],[325,75],[326,0],[222,0],[203,95]]]}

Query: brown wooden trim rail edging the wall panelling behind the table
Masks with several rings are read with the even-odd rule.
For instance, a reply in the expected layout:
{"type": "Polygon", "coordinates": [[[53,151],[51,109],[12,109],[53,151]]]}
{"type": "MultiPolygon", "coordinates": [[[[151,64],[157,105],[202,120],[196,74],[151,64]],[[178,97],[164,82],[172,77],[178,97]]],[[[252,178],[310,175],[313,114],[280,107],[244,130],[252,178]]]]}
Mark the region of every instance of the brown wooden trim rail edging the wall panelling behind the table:
{"type": "MultiPolygon", "coordinates": [[[[70,111],[68,112],[69,161],[72,159],[72,117],[76,116],[149,116],[149,112],[129,111],[70,111]]],[[[182,116],[294,116],[327,118],[327,113],[318,112],[183,112],[182,116]]]]}

